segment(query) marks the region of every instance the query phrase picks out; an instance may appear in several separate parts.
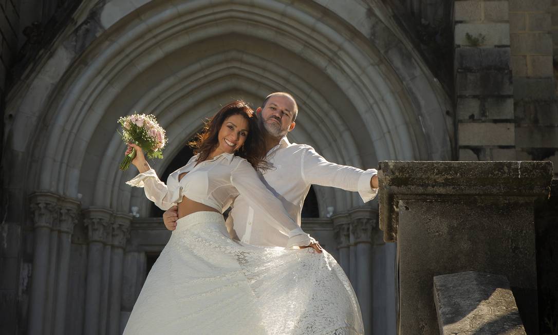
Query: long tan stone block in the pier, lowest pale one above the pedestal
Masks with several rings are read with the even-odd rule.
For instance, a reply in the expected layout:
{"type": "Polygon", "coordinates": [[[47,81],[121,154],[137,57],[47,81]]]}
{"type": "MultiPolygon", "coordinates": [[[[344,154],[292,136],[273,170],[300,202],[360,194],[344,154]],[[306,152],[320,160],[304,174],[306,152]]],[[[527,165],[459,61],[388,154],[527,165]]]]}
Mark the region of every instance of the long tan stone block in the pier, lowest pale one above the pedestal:
{"type": "Polygon", "coordinates": [[[514,123],[460,122],[460,146],[514,145],[514,123]]]}

